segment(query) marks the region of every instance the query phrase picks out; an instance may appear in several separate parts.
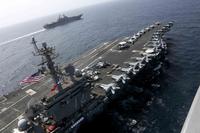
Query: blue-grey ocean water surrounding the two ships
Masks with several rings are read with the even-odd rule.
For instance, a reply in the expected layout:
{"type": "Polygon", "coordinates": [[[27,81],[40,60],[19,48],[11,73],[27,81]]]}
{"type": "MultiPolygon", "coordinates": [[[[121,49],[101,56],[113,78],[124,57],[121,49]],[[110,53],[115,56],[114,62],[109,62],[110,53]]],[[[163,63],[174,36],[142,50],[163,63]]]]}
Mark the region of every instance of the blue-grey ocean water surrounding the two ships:
{"type": "MultiPolygon", "coordinates": [[[[0,94],[19,87],[19,81],[37,70],[40,58],[32,55],[31,37],[56,46],[62,64],[103,42],[131,35],[156,21],[174,21],[166,34],[170,68],[160,77],[161,88],[137,116],[137,133],[179,133],[200,83],[200,1],[123,0],[67,12],[83,13],[83,20],[43,30],[52,15],[0,29],[0,94]]],[[[127,99],[129,100],[128,97],[127,99]]],[[[132,107],[132,104],[129,104],[132,107]]],[[[113,108],[111,113],[117,112],[113,108]]],[[[126,112],[124,112],[126,113],[126,112]]],[[[91,125],[96,131],[116,132],[113,117],[102,117],[91,125]],[[96,125],[95,125],[96,124],[96,125]],[[108,126],[109,125],[109,126],[108,126]]]]}

